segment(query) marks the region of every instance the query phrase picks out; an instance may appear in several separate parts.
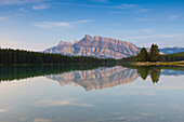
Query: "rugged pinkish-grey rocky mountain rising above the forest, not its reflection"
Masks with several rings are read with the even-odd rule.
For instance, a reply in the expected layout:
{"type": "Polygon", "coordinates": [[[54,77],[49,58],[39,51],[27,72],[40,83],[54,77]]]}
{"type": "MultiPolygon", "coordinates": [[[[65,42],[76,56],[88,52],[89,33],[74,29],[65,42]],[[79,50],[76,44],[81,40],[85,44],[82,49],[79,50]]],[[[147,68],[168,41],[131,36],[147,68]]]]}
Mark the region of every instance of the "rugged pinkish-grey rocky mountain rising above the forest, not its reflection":
{"type": "Polygon", "coordinates": [[[139,48],[133,43],[117,39],[86,35],[80,41],[75,40],[74,43],[61,41],[58,45],[47,49],[44,52],[119,59],[135,55],[139,48]]]}

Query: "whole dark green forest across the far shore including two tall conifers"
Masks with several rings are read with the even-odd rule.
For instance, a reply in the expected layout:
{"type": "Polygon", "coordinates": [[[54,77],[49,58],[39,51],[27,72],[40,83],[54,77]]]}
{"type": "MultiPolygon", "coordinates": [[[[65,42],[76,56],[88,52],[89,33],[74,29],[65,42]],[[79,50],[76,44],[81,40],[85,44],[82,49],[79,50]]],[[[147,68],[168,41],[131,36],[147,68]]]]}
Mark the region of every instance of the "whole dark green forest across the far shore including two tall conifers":
{"type": "Polygon", "coordinates": [[[136,62],[181,62],[184,60],[184,52],[160,55],[158,46],[153,44],[147,52],[142,48],[136,56],[122,59],[97,58],[90,56],[67,56],[25,50],[0,49],[0,65],[54,65],[54,64],[130,64],[136,62]]]}

